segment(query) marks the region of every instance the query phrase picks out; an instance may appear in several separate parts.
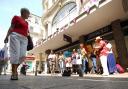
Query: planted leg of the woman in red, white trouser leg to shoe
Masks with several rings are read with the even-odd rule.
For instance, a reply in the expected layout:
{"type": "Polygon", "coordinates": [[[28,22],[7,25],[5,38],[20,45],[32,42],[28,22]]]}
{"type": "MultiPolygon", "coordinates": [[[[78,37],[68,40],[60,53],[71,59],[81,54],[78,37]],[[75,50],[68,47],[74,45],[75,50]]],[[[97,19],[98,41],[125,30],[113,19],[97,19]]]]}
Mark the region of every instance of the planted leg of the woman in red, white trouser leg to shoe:
{"type": "Polygon", "coordinates": [[[10,62],[12,64],[12,80],[17,80],[17,68],[20,57],[20,40],[17,35],[10,35],[10,62]]]}

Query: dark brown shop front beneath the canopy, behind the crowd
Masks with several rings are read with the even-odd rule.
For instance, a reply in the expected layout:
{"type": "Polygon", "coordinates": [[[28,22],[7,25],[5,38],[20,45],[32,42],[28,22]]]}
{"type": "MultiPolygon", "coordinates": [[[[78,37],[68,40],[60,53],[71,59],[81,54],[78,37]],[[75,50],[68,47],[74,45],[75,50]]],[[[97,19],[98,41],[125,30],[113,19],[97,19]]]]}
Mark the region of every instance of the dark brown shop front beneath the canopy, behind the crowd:
{"type": "Polygon", "coordinates": [[[120,32],[116,33],[113,24],[110,24],[87,35],[82,35],[79,37],[79,40],[58,48],[55,51],[72,52],[73,49],[78,49],[79,44],[82,42],[85,43],[90,53],[93,50],[95,38],[101,36],[103,40],[108,40],[112,44],[116,62],[121,64],[124,68],[128,68],[128,20],[119,21],[118,25],[116,30],[120,30],[120,32]]]}

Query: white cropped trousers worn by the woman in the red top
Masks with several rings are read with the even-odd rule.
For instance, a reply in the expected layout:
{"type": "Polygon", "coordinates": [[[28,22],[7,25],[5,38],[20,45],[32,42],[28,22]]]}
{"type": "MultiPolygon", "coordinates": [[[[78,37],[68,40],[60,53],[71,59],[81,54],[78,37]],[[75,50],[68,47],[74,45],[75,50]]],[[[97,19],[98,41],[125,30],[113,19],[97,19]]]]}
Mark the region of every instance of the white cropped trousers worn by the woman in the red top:
{"type": "Polygon", "coordinates": [[[21,64],[26,56],[28,39],[16,32],[10,34],[10,63],[21,64]]]}

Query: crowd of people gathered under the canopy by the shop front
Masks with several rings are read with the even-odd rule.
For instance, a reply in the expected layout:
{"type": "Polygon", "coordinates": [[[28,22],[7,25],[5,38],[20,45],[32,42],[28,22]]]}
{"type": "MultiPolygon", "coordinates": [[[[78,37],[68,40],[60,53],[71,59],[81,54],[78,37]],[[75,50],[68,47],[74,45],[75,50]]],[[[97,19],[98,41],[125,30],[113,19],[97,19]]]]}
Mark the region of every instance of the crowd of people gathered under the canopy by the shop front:
{"type": "Polygon", "coordinates": [[[55,73],[58,66],[62,75],[70,73],[79,74],[80,77],[88,72],[103,76],[119,72],[111,43],[100,36],[96,37],[91,52],[87,51],[83,43],[80,44],[80,48],[73,49],[72,52],[65,51],[57,54],[51,51],[48,56],[48,66],[52,74],[55,73]],[[89,63],[92,64],[91,67],[89,63]]]}

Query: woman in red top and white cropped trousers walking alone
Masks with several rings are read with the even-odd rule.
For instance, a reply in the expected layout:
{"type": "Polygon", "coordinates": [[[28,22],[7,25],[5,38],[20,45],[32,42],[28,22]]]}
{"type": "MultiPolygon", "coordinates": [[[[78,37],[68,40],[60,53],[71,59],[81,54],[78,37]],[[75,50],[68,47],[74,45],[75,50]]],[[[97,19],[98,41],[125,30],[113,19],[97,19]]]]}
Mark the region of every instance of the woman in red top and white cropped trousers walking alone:
{"type": "Polygon", "coordinates": [[[8,30],[4,43],[8,43],[10,36],[10,63],[12,64],[11,80],[18,80],[18,66],[24,61],[28,44],[28,19],[30,12],[22,8],[21,16],[14,16],[8,30]]]}

